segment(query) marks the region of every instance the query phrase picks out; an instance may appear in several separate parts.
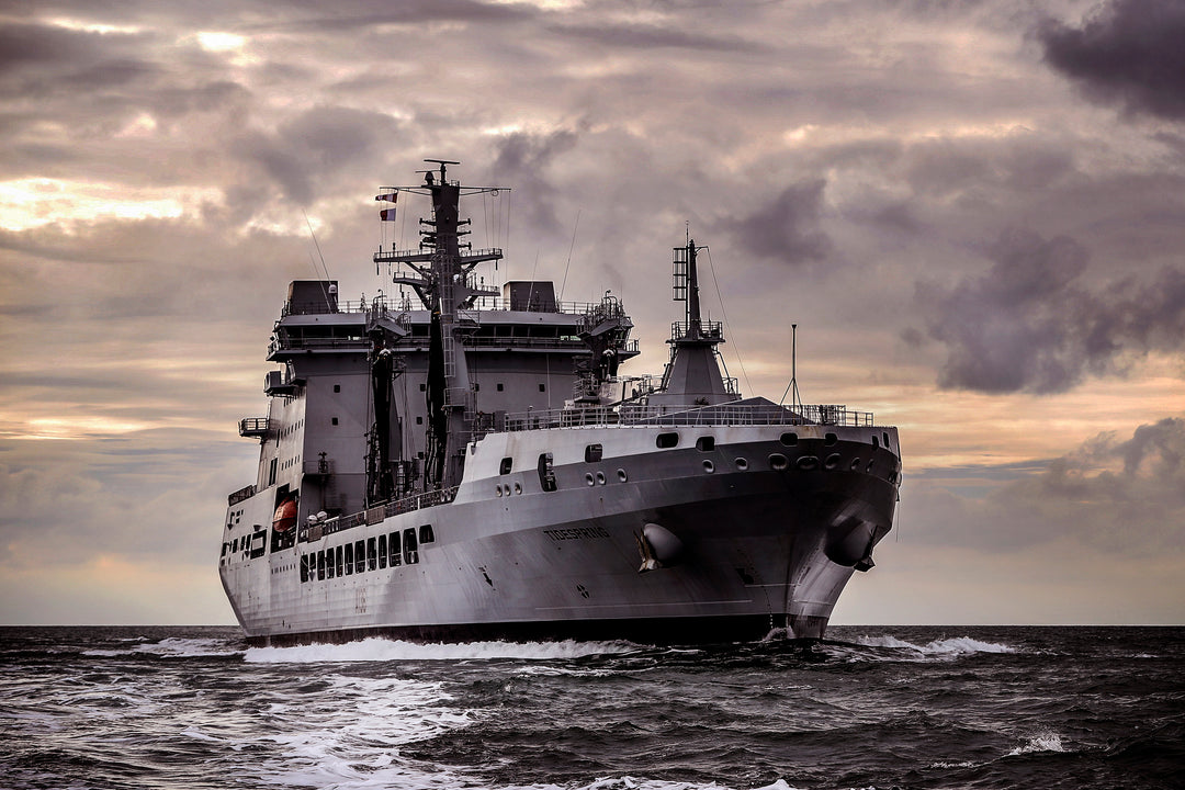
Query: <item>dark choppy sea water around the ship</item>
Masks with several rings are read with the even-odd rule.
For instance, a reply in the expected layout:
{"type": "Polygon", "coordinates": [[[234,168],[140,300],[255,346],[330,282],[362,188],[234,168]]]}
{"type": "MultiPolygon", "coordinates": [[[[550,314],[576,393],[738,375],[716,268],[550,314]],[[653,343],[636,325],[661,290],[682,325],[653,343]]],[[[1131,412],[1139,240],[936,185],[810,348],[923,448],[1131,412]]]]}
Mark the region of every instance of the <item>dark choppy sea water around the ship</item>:
{"type": "Polygon", "coordinates": [[[1185,786],[1183,628],[250,648],[0,629],[0,786],[1185,786]]]}

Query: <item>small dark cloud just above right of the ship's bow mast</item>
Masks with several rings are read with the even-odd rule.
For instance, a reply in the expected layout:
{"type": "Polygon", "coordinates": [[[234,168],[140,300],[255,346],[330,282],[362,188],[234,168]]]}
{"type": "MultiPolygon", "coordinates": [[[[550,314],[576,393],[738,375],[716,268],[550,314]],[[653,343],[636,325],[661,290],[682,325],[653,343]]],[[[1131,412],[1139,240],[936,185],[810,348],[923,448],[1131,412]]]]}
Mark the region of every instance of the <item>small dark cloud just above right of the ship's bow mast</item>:
{"type": "Polygon", "coordinates": [[[754,213],[722,224],[752,255],[793,265],[820,261],[832,249],[819,226],[826,186],[824,179],[792,184],[754,213]]]}

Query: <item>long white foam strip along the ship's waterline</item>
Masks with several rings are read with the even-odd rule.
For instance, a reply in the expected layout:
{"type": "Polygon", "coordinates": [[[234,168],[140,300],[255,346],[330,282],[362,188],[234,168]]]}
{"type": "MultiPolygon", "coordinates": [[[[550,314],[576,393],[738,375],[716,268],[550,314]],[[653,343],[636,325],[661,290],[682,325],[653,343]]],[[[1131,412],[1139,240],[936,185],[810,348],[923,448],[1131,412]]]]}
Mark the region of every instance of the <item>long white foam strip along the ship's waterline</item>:
{"type": "Polygon", "coordinates": [[[463,642],[427,643],[369,638],[346,644],[303,644],[292,648],[249,648],[249,663],[325,663],[350,661],[465,661],[489,659],[556,660],[623,654],[627,642],[463,642]]]}

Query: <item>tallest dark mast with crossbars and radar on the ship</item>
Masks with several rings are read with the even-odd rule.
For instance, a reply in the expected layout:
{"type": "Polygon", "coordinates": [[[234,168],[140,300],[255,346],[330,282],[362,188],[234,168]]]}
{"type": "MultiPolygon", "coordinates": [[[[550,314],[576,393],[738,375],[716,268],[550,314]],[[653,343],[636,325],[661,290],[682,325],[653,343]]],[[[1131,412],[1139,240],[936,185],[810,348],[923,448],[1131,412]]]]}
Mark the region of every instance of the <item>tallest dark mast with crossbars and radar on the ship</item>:
{"type": "Polygon", "coordinates": [[[397,272],[393,281],[410,285],[431,314],[423,480],[424,490],[436,490],[461,482],[465,443],[468,439],[467,423],[472,420],[474,411],[473,387],[462,342],[466,327],[460,311],[472,306],[479,296],[498,295],[498,291],[476,287],[473,269],[481,262],[500,259],[502,252],[492,249],[474,253],[470,244],[461,242],[461,237],[469,232],[465,229],[470,221],[460,218],[462,192],[478,194],[493,190],[462,187],[457,181],[449,181],[448,166],[460,162],[443,159],[424,161],[440,166],[438,179],[436,171],[423,171],[423,185],[384,190],[390,194],[380,195],[392,198],[399,192],[410,192],[431,199],[431,219],[419,220],[419,249],[379,251],[374,255],[374,262],[406,264],[414,274],[397,272]]]}

